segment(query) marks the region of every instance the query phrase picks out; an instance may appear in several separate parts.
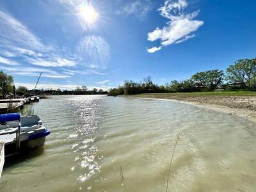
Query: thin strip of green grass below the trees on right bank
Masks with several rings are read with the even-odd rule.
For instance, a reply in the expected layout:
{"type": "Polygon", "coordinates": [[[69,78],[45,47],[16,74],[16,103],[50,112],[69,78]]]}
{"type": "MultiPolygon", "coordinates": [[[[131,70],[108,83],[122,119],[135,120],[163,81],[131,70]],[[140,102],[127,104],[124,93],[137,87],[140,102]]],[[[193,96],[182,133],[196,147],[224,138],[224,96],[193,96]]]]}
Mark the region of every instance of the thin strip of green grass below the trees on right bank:
{"type": "Polygon", "coordinates": [[[211,97],[211,96],[241,96],[256,97],[256,92],[191,92],[191,93],[142,93],[138,95],[129,95],[129,97],[148,97],[157,99],[171,99],[175,97],[211,97]]]}

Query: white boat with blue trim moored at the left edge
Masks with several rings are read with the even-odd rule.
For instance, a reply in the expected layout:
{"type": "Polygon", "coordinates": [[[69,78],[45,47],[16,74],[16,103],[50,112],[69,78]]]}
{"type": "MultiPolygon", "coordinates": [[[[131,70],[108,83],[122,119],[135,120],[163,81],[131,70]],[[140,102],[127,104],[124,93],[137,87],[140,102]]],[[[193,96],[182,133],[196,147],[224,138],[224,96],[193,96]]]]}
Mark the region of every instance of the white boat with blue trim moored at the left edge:
{"type": "Polygon", "coordinates": [[[20,116],[20,113],[0,115],[0,141],[4,141],[5,148],[15,144],[17,150],[20,146],[35,148],[44,145],[45,137],[50,133],[37,115],[20,116]]]}

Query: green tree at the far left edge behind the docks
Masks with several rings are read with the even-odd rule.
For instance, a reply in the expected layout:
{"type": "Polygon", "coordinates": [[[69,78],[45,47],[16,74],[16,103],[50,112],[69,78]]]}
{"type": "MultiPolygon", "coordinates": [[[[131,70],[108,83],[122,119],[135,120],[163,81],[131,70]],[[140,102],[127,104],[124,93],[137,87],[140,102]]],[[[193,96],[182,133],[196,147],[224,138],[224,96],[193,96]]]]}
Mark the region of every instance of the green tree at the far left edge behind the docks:
{"type": "Polygon", "coordinates": [[[12,91],[13,77],[0,71],[0,93],[3,98],[6,97],[8,92],[12,91]]]}

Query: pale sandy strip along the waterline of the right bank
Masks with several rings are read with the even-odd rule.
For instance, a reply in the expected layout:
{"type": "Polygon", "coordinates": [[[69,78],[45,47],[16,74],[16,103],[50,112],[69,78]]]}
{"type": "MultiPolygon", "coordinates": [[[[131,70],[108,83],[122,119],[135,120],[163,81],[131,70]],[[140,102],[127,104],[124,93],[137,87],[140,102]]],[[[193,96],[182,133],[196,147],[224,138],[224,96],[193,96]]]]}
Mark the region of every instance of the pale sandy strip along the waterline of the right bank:
{"type": "Polygon", "coordinates": [[[179,102],[179,103],[184,103],[184,104],[190,104],[199,108],[205,108],[205,109],[211,109],[216,112],[220,113],[225,113],[227,115],[234,115],[234,116],[239,116],[245,120],[249,120],[250,122],[253,122],[256,124],[256,116],[255,111],[250,110],[250,109],[240,109],[240,108],[230,108],[228,106],[220,106],[218,104],[208,104],[208,103],[202,103],[202,102],[196,102],[196,101],[191,101],[191,100],[179,100],[179,99],[161,99],[161,98],[150,98],[150,97],[136,97],[136,96],[124,96],[122,97],[127,97],[127,98],[133,98],[133,99],[150,99],[150,100],[166,100],[166,101],[172,101],[172,102],[179,102]]]}

